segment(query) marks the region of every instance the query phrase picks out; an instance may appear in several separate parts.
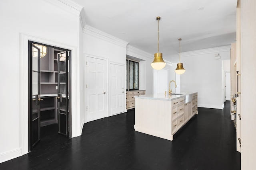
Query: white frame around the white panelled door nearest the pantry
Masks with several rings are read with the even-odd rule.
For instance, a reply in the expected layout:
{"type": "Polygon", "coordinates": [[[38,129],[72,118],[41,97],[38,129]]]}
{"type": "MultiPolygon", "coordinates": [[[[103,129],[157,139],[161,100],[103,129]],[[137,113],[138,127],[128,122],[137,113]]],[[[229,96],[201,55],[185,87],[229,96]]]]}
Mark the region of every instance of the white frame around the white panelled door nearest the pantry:
{"type": "Polygon", "coordinates": [[[86,74],[87,74],[87,66],[86,66],[86,62],[88,62],[87,61],[87,57],[92,57],[92,58],[95,58],[95,59],[100,59],[100,60],[105,60],[106,61],[106,70],[107,70],[107,72],[106,72],[106,75],[107,75],[107,78],[106,78],[106,80],[107,80],[107,82],[106,82],[106,84],[107,84],[107,88],[106,88],[106,95],[107,95],[107,97],[106,97],[106,117],[109,117],[109,108],[108,108],[108,104],[109,104],[109,100],[108,100],[108,92],[109,92],[109,89],[108,89],[108,82],[109,82],[109,76],[108,76],[108,73],[109,73],[109,71],[108,71],[108,58],[104,58],[104,57],[99,57],[99,56],[96,56],[96,55],[90,55],[90,54],[87,54],[87,53],[84,53],[84,123],[87,123],[88,121],[87,121],[87,107],[89,107],[88,106],[88,102],[86,102],[87,101],[87,95],[88,95],[88,92],[87,92],[87,88],[86,88],[86,84],[88,84],[88,78],[87,78],[87,76],[86,76],[86,74]]]}

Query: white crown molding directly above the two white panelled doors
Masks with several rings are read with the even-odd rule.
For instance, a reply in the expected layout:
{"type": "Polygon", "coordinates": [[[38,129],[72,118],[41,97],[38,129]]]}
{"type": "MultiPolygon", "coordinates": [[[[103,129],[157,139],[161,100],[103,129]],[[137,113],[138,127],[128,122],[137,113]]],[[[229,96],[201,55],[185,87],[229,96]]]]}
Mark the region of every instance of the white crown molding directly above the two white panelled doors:
{"type": "Polygon", "coordinates": [[[86,33],[88,35],[91,35],[93,37],[103,39],[103,40],[108,41],[110,43],[114,43],[114,44],[119,45],[121,47],[126,47],[126,45],[128,44],[128,42],[126,42],[122,39],[116,38],[116,37],[114,37],[114,36],[112,36],[108,33],[100,31],[100,30],[98,30],[94,27],[91,27],[89,25],[85,25],[84,33],[86,33]]]}

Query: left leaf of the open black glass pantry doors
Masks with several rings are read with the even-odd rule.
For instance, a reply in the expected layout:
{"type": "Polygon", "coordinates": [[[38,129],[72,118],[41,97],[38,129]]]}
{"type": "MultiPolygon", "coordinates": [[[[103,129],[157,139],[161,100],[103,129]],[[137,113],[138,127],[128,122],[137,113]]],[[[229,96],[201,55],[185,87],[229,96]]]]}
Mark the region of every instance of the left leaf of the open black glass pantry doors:
{"type": "Polygon", "coordinates": [[[40,141],[40,49],[30,43],[30,150],[40,141]]]}

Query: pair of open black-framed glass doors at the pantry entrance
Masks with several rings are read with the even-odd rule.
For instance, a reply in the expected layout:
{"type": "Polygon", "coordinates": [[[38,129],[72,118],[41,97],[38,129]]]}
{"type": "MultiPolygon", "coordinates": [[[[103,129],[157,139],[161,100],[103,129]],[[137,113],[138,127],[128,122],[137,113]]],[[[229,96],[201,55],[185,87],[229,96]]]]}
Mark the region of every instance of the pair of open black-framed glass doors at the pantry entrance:
{"type": "MultiPolygon", "coordinates": [[[[38,45],[29,41],[29,149],[40,141],[40,125],[41,114],[40,104],[44,102],[41,98],[40,89],[40,59],[43,48],[46,46],[38,45]]],[[[69,51],[64,51],[57,54],[58,63],[58,133],[70,137],[70,61],[69,51]]],[[[49,54],[48,54],[49,55],[49,54]]]]}

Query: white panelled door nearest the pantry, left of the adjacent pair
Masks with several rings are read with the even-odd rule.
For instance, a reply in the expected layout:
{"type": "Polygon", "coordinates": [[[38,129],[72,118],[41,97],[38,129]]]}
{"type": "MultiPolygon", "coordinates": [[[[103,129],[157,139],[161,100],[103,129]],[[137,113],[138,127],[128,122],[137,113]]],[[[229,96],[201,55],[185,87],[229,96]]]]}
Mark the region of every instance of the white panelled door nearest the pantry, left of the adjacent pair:
{"type": "Polygon", "coordinates": [[[107,116],[107,62],[86,58],[86,118],[94,121],[107,116]]]}

